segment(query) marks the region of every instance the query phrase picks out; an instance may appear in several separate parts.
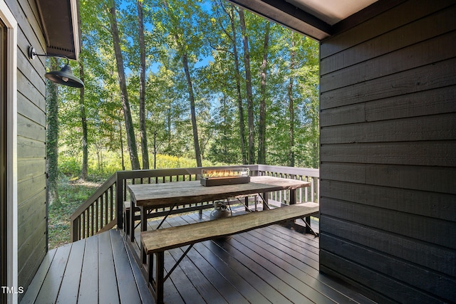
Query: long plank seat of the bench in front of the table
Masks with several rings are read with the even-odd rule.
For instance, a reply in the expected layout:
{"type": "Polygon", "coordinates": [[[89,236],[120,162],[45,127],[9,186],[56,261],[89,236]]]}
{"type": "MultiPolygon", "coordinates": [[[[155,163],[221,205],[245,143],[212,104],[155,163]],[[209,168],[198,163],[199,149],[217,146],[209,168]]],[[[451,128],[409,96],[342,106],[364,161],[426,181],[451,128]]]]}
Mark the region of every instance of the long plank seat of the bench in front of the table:
{"type": "Polygon", "coordinates": [[[294,204],[224,219],[203,221],[184,226],[142,231],[141,242],[147,255],[221,236],[239,234],[283,221],[299,219],[318,213],[316,203],[294,204]]]}

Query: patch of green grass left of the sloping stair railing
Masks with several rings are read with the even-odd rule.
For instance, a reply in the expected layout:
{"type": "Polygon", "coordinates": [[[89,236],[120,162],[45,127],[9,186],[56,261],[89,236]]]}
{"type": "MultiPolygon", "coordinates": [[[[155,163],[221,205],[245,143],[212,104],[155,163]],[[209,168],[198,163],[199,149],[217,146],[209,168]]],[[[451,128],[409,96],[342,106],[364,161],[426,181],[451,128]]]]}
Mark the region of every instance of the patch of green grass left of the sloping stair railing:
{"type": "Polygon", "coordinates": [[[48,209],[49,249],[71,243],[70,216],[100,185],[97,182],[83,182],[68,177],[59,179],[60,204],[52,204],[48,209]]]}

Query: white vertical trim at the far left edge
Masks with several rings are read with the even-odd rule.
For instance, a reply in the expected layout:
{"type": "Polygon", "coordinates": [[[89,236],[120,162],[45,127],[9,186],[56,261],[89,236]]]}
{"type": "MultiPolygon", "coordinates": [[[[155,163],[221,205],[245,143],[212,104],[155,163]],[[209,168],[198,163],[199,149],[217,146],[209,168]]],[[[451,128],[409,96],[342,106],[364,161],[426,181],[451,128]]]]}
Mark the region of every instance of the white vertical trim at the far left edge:
{"type": "MultiPolygon", "coordinates": [[[[8,28],[6,41],[7,48],[7,85],[6,85],[6,124],[10,132],[7,135],[6,147],[6,201],[8,208],[8,284],[9,287],[18,286],[18,218],[17,218],[17,21],[6,5],[4,0],[0,0],[0,19],[8,28]]],[[[18,303],[18,295],[11,293],[8,295],[8,303],[18,303]]]]}

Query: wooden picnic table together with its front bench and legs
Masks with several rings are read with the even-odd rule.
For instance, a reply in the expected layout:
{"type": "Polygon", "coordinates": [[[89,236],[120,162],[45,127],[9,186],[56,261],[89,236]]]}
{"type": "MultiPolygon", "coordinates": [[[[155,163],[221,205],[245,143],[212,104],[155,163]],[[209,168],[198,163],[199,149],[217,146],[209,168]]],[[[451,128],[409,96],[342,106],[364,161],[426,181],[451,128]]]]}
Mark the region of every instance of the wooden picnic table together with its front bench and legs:
{"type": "MultiPolygon", "coordinates": [[[[283,221],[307,218],[307,216],[310,219],[311,214],[318,212],[318,204],[296,204],[296,189],[309,186],[309,182],[266,176],[251,177],[250,182],[247,184],[229,184],[212,187],[204,187],[199,181],[129,185],[128,189],[131,197],[130,239],[133,241],[135,238],[135,222],[133,219],[135,206],[138,206],[141,213],[140,226],[142,231],[140,260],[145,265],[150,290],[155,303],[164,303],[164,283],[172,271],[179,265],[180,261],[182,261],[182,258],[187,255],[194,243],[214,239],[219,236],[239,234],[243,231],[257,229],[283,221]],[[291,206],[272,209],[271,211],[253,212],[224,219],[199,222],[197,224],[147,231],[147,209],[167,206],[171,210],[178,204],[195,204],[204,201],[228,199],[235,196],[247,196],[249,194],[263,194],[265,201],[267,192],[281,190],[289,190],[289,204],[291,206]],[[175,266],[165,275],[164,251],[184,245],[190,246],[185,250],[181,258],[176,261],[175,266]],[[152,254],[155,254],[155,258],[152,258],[152,254]]],[[[264,204],[266,204],[266,201],[264,204]]],[[[306,226],[309,226],[309,222],[307,222],[306,226]]]]}

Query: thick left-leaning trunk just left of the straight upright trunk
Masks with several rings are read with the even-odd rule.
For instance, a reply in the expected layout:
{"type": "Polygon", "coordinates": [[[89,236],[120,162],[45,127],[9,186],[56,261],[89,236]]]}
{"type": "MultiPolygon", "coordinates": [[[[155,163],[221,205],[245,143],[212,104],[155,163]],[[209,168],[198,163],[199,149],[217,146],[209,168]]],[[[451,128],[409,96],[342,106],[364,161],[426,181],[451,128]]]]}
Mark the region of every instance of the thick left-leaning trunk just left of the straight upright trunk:
{"type": "Polygon", "coordinates": [[[122,97],[123,115],[125,117],[125,130],[127,133],[127,145],[130,152],[131,169],[140,169],[138,159],[138,150],[136,149],[135,130],[133,129],[133,120],[131,118],[130,103],[128,102],[127,83],[125,81],[125,70],[123,68],[123,57],[120,49],[119,31],[117,26],[117,16],[115,10],[115,1],[111,2],[112,6],[109,11],[111,14],[111,33],[113,34],[115,61],[117,63],[120,95],[122,97]]]}

